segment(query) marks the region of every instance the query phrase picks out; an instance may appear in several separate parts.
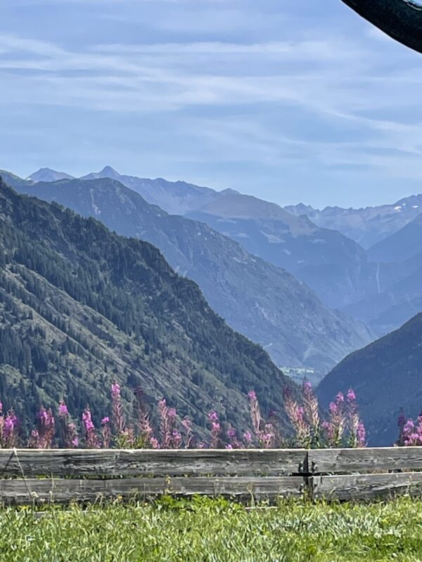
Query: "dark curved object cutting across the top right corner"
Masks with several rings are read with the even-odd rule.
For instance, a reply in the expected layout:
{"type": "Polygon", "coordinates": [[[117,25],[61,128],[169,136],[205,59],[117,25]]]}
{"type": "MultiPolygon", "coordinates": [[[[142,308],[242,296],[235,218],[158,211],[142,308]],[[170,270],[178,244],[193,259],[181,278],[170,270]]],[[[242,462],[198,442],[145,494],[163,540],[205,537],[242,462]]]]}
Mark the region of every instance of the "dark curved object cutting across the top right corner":
{"type": "Polygon", "coordinates": [[[422,6],[412,0],[342,0],[392,39],[422,53],[422,6]]]}

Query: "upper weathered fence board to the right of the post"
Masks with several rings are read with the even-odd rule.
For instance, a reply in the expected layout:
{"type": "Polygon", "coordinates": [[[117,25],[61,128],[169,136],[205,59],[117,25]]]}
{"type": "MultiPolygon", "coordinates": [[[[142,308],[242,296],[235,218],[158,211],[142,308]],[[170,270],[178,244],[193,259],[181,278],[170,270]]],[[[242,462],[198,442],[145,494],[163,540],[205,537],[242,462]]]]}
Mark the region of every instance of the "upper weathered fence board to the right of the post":
{"type": "Polygon", "coordinates": [[[310,450],[308,462],[314,473],[422,470],[422,447],[310,450]]]}

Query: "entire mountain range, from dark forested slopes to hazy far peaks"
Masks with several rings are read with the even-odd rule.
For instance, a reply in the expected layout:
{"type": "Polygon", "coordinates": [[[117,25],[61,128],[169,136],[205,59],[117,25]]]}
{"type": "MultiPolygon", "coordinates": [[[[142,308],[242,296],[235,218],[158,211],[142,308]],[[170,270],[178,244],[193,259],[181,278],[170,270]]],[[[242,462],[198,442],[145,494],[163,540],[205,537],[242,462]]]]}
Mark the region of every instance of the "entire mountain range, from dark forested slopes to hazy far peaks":
{"type": "Polygon", "coordinates": [[[245,424],[246,387],[260,388],[264,407],[273,407],[280,400],[276,387],[288,381],[260,346],[233,332],[224,318],[266,346],[279,365],[331,370],[318,388],[324,406],[339,390],[354,388],[371,445],[391,445],[397,438],[400,407],[412,417],[419,413],[422,196],[316,212],[302,204],[282,208],[235,190],[123,176],[107,166],[79,179],[69,174],[57,179],[49,169],[27,180],[1,174],[18,191],[38,197],[0,186],[6,249],[0,258],[0,370],[6,377],[0,385],[13,389],[16,407],[25,408],[23,392],[40,403],[44,397],[57,401],[64,391],[80,407],[76,380],[87,377],[84,391],[101,409],[107,397],[98,381],[117,374],[129,386],[142,382],[150,396],[158,387],[198,426],[217,388],[226,419],[245,424]],[[122,257],[128,251],[141,263],[140,285],[138,265],[135,275],[122,257]],[[154,270],[152,288],[149,273],[148,281],[143,279],[146,269],[154,270]],[[87,297],[82,298],[79,277],[87,297]],[[198,282],[211,308],[186,277],[198,282]],[[343,311],[366,322],[380,339],[369,344],[373,332],[323,304],[307,283],[326,303],[348,292],[343,311]],[[174,288],[180,284],[189,289],[180,293],[174,288]],[[123,311],[129,311],[124,318],[123,311]],[[141,325],[134,320],[140,315],[141,325]],[[216,363],[217,349],[224,359],[218,356],[216,363]]]}

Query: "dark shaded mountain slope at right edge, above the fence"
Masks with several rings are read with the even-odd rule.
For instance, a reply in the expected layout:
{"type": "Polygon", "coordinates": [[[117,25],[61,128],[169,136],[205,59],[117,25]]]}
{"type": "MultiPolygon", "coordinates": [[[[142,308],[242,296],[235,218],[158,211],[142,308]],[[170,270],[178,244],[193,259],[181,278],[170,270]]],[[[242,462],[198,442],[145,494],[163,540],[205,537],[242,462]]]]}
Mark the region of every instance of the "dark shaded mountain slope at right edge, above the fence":
{"type": "Polygon", "coordinates": [[[333,393],[353,388],[372,445],[397,439],[400,407],[407,416],[422,411],[422,313],[395,332],[340,362],[319,384],[324,405],[333,393]]]}

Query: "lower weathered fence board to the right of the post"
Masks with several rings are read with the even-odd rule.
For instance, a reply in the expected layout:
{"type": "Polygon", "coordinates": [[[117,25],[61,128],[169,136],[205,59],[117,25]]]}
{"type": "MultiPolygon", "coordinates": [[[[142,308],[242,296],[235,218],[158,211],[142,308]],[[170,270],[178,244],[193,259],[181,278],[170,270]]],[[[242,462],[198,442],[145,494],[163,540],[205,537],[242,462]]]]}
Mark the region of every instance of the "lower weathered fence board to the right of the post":
{"type": "Polygon", "coordinates": [[[312,495],[315,499],[389,498],[409,494],[422,496],[422,473],[360,474],[347,476],[312,477],[312,495]]]}

